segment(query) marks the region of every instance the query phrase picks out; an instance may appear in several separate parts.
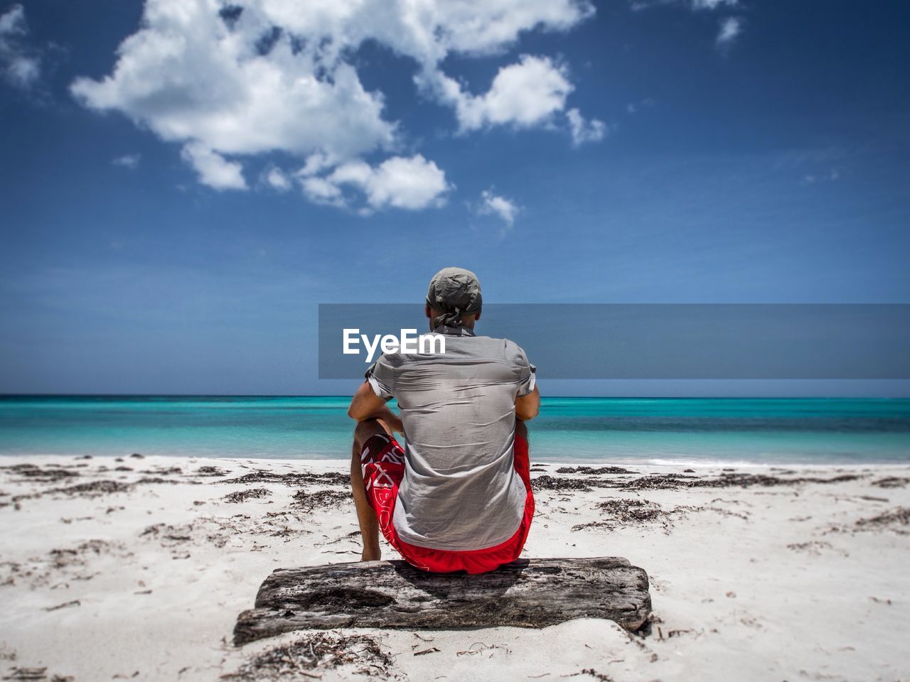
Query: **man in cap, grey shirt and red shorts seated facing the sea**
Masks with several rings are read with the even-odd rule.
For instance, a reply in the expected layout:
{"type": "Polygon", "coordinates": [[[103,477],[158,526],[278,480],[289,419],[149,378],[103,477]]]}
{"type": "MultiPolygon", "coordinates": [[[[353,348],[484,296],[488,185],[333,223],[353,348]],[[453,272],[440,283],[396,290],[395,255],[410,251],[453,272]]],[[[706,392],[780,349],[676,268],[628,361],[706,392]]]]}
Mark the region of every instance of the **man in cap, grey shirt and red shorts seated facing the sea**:
{"type": "Polygon", "coordinates": [[[379,559],[379,530],[410,564],[438,573],[484,573],[521,554],[534,515],[524,422],[541,397],[521,347],[474,334],[481,305],[477,276],[440,270],[425,312],[445,352],[384,354],[351,400],[361,561],[379,559]]]}

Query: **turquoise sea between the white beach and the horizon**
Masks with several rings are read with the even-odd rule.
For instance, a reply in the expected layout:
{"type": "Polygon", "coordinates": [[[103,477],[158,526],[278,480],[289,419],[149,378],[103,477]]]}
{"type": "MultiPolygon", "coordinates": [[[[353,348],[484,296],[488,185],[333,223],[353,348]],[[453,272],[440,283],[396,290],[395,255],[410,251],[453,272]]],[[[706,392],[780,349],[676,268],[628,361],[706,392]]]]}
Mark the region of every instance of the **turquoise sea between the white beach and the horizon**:
{"type": "MultiPolygon", "coordinates": [[[[342,458],[348,401],[0,396],[0,454],[342,458]]],[[[905,398],[551,397],[530,426],[545,461],[910,463],[905,398]]]]}

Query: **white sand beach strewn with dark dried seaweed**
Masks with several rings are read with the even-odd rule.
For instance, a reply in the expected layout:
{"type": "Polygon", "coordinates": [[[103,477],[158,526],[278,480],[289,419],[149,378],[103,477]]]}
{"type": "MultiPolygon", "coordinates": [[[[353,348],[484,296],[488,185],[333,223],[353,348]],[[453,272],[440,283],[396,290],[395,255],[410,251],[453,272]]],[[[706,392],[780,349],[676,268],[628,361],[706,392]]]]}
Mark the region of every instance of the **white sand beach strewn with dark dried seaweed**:
{"type": "Polygon", "coordinates": [[[358,558],[346,462],[0,466],[2,679],[910,679],[910,466],[534,464],[525,556],[627,557],[651,578],[650,632],[584,619],[246,647],[232,628],[274,568],[358,558]]]}

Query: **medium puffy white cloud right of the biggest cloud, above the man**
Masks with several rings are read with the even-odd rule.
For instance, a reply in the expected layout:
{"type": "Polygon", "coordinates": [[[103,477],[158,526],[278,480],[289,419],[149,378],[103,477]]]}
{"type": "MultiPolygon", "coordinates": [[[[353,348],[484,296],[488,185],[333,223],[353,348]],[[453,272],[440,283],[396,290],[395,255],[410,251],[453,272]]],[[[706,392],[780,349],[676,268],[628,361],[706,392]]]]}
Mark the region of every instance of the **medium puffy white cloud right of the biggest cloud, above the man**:
{"type": "Polygon", "coordinates": [[[531,127],[548,124],[562,111],[574,89],[566,68],[549,57],[521,55],[517,64],[503,66],[484,95],[470,95],[449,76],[436,71],[421,76],[440,99],[454,105],[462,131],[487,125],[531,127]]]}

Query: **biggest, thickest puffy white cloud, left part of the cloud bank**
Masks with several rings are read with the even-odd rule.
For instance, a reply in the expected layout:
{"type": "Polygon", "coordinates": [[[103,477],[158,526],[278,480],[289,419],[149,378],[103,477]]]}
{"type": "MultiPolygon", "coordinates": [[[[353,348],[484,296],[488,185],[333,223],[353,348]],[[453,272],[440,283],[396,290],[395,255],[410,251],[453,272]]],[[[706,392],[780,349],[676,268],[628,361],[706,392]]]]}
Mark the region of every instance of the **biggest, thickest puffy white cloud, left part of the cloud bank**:
{"type": "Polygon", "coordinates": [[[222,154],[358,155],[392,142],[382,96],[367,93],[352,66],[320,78],[316,56],[295,54],[288,36],[261,55],[265,17],[244,11],[232,28],[218,8],[215,0],[148,0],[144,26],[120,45],[114,73],[76,79],[73,94],[165,140],[222,154]]]}

